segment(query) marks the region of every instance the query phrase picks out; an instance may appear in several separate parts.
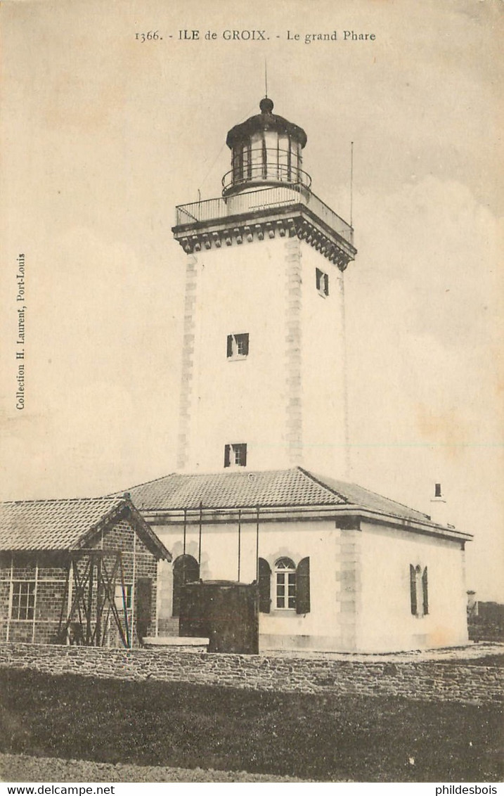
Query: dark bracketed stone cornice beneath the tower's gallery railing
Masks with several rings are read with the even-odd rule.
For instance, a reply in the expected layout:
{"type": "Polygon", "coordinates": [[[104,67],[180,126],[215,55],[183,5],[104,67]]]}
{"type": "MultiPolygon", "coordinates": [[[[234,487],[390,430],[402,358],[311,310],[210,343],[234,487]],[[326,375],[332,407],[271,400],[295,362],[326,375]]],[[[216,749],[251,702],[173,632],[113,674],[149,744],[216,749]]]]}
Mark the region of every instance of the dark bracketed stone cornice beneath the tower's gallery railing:
{"type": "Polygon", "coordinates": [[[305,205],[281,206],[241,213],[225,219],[196,221],[172,228],[187,254],[221,246],[241,245],[279,237],[298,236],[345,271],[357,250],[305,205]]]}

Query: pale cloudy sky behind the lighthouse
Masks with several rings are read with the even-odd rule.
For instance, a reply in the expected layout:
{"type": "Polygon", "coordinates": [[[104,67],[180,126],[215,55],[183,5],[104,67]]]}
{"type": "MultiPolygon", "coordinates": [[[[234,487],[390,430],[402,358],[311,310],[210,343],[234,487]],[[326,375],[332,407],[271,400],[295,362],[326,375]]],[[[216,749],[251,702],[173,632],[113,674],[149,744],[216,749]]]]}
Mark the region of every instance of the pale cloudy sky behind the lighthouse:
{"type": "Polygon", "coordinates": [[[220,195],[225,135],[258,112],[267,60],[275,112],[307,131],[312,189],[346,219],[354,142],[351,478],[427,513],[441,482],[448,521],[475,534],[467,587],[504,601],[502,4],[7,0],[0,22],[0,499],[174,470],[174,208],[220,195]]]}

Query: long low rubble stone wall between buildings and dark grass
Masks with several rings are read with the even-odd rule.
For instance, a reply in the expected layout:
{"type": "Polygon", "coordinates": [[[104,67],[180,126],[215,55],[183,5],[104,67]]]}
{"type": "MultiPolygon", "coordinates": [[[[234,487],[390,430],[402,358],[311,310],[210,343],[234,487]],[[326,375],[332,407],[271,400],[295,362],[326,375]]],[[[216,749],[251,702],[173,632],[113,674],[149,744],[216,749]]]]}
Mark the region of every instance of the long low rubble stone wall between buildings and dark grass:
{"type": "Polygon", "coordinates": [[[334,661],[323,657],[206,654],[182,650],[0,644],[0,667],[49,674],[183,681],[230,688],[472,704],[502,701],[502,669],[456,661],[334,661]]]}

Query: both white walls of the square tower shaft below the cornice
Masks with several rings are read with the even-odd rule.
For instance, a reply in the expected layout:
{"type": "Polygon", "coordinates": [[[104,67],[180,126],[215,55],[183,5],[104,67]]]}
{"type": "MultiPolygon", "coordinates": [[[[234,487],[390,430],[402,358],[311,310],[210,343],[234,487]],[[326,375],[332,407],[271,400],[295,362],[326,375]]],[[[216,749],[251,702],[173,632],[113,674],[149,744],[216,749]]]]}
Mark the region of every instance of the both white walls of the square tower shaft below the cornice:
{"type": "Polygon", "coordinates": [[[203,249],[186,268],[181,469],[221,470],[225,444],[246,443],[253,470],[342,473],[342,272],[297,236],[203,249]],[[329,295],[316,288],[317,268],[329,295]],[[248,334],[247,357],[227,356],[229,334],[248,334]]]}

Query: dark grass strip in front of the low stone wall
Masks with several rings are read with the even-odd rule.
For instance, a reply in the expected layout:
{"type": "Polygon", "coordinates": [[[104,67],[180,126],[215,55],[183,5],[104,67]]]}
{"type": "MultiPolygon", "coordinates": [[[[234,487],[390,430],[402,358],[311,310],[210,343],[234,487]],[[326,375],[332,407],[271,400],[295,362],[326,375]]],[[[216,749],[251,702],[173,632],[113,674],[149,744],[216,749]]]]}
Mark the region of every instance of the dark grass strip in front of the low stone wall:
{"type": "Polygon", "coordinates": [[[495,782],[497,707],[0,670],[0,751],[316,781],[495,782]]]}

